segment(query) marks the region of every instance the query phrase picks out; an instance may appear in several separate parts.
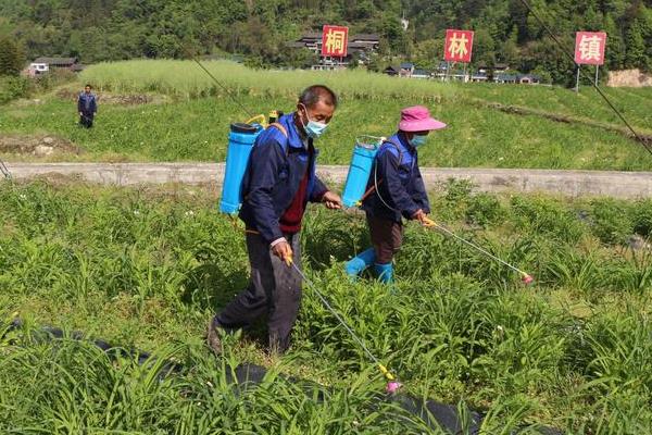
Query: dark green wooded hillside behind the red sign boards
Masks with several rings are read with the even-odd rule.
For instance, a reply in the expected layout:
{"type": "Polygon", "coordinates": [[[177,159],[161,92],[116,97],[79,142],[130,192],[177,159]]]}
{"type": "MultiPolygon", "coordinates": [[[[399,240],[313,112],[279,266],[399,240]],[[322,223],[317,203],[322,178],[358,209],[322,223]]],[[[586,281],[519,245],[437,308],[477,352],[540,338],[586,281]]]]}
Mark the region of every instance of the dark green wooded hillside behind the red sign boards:
{"type": "MultiPolygon", "coordinates": [[[[607,69],[652,67],[652,13],[642,0],[531,4],[568,50],[576,30],[604,30],[607,69]]],[[[428,67],[441,58],[446,28],[472,28],[475,63],[509,63],[555,83],[573,79],[573,64],[519,0],[0,0],[0,35],[15,37],[27,58],[74,55],[85,63],[225,52],[292,65],[297,55],[287,41],[337,23],[380,35],[372,67],[397,59],[428,67]]]]}

